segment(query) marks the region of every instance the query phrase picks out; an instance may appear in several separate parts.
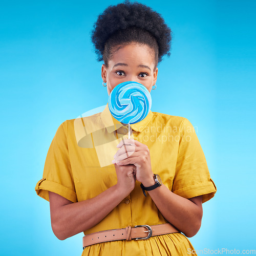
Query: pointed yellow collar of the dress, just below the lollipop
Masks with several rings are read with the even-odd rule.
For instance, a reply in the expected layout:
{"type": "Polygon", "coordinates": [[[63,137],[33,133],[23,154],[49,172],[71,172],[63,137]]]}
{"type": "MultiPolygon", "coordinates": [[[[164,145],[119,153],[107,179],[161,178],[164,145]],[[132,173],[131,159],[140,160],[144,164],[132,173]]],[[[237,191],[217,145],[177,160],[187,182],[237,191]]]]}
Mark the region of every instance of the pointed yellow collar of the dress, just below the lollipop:
{"type": "MultiPolygon", "coordinates": [[[[151,121],[152,117],[153,113],[150,110],[150,112],[143,120],[141,120],[138,123],[131,124],[131,128],[136,132],[142,132],[147,126],[147,124],[151,121]]],[[[100,118],[104,123],[106,130],[108,130],[109,133],[113,133],[114,131],[116,131],[117,129],[124,125],[111,115],[111,112],[109,110],[109,103],[106,104],[105,109],[100,113],[100,118]]]]}

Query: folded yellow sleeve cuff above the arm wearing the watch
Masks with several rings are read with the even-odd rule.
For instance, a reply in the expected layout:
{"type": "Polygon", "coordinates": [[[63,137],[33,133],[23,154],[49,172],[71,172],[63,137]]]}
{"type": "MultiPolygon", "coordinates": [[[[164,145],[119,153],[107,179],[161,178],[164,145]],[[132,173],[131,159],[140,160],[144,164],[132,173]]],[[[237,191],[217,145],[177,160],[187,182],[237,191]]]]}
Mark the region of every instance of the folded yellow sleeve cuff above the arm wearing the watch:
{"type": "Polygon", "coordinates": [[[214,184],[214,181],[210,179],[210,181],[206,181],[201,184],[195,184],[189,187],[174,190],[173,193],[187,199],[203,196],[202,202],[204,203],[213,198],[216,191],[216,185],[214,184]]]}

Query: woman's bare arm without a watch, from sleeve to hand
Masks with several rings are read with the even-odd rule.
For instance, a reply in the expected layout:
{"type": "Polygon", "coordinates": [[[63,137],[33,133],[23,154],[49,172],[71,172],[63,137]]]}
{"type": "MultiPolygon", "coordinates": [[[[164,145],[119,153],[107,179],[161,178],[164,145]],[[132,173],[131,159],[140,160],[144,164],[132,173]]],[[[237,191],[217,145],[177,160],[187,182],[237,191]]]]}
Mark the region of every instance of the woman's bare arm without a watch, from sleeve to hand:
{"type": "Polygon", "coordinates": [[[115,165],[115,168],[117,184],[92,199],[73,203],[49,191],[52,230],[58,239],[65,240],[95,226],[131,193],[135,166],[115,165]]]}

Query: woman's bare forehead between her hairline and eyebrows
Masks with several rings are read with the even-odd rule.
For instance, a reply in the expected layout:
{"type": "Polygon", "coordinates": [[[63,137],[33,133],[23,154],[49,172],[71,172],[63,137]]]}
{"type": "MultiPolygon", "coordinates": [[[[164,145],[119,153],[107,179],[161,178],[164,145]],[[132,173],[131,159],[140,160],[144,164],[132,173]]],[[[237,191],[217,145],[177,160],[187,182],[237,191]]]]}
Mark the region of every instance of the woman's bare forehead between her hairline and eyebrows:
{"type": "Polygon", "coordinates": [[[110,62],[115,65],[116,62],[120,61],[129,62],[130,65],[133,63],[136,65],[138,65],[138,63],[154,65],[154,50],[147,45],[141,44],[129,44],[117,47],[110,59],[110,62]]]}

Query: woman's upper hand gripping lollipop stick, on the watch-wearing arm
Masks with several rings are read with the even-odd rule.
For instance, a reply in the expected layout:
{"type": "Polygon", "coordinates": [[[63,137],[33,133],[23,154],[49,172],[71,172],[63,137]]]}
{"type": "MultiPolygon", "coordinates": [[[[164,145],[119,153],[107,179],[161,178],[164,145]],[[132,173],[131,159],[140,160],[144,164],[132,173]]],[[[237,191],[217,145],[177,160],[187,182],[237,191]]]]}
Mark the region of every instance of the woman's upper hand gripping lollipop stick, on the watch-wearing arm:
{"type": "Polygon", "coordinates": [[[154,185],[150,150],[147,145],[130,138],[122,140],[117,147],[120,149],[114,156],[115,159],[112,163],[116,163],[116,165],[134,164],[136,166],[136,179],[145,187],[154,185]]]}

